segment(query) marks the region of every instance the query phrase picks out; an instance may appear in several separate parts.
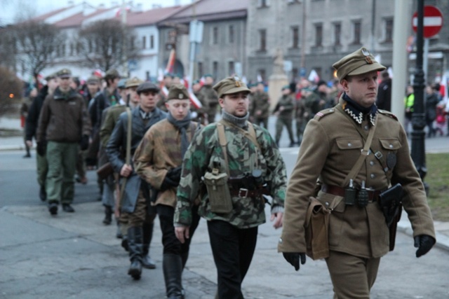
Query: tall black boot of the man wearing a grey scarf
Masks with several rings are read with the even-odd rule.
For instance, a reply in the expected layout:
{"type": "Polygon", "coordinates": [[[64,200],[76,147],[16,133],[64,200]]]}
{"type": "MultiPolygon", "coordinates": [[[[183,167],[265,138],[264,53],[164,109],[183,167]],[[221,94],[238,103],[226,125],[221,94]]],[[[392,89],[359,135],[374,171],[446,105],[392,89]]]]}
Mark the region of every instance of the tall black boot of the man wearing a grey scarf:
{"type": "Polygon", "coordinates": [[[166,281],[168,299],[184,299],[182,292],[182,258],[177,254],[165,253],[162,261],[163,278],[166,281]]]}

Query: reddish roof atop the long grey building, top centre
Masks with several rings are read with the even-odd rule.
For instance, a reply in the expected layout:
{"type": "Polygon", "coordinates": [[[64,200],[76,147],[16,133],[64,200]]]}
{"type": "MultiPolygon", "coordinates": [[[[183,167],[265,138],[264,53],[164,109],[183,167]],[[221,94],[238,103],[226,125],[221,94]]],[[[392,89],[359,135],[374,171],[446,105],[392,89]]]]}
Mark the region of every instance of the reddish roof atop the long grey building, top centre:
{"type": "Polygon", "coordinates": [[[248,14],[250,0],[198,0],[184,6],[168,21],[189,22],[194,17],[200,21],[222,20],[227,18],[243,18],[248,14]]]}

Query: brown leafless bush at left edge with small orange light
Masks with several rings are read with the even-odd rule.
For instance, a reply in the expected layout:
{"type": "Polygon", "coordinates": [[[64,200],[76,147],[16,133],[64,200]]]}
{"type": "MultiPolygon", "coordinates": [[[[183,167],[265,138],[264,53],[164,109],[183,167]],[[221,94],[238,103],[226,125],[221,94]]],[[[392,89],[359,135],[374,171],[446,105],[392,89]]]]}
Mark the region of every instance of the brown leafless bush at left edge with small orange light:
{"type": "Polygon", "coordinates": [[[22,99],[22,81],[6,67],[0,67],[0,116],[14,111],[22,99]]]}

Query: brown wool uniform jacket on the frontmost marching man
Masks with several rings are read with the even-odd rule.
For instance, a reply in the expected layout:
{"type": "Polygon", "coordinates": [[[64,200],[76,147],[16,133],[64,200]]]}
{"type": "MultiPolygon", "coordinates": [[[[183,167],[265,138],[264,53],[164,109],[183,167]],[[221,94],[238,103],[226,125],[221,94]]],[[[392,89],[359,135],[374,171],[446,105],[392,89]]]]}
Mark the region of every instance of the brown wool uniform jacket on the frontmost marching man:
{"type": "MultiPolygon", "coordinates": [[[[435,237],[424,186],[410,157],[406,132],[391,113],[378,111],[376,117],[371,149],[380,151],[384,158],[389,153],[394,154],[397,162],[384,172],[380,161],[370,153],[354,183],[359,186],[365,180],[366,187],[375,190],[389,188],[387,176],[391,185],[401,183],[403,207],[412,223],[413,235],[435,237]]],[[[321,111],[307,124],[297,163],[288,182],[283,232],[278,246],[280,252],[306,252],[304,221],[309,197],[314,196],[316,179],[320,178],[330,186],[346,187],[342,184],[361,155],[370,127],[368,121],[363,120],[361,128],[366,136],[362,139],[354,125],[358,124],[335,108],[321,111]]],[[[320,191],[318,198],[323,204],[332,204],[333,200],[342,197],[320,191]]],[[[359,208],[357,205],[345,206],[342,200],[330,214],[328,239],[330,250],[363,258],[377,258],[389,251],[389,230],[377,202],[359,208]]]]}

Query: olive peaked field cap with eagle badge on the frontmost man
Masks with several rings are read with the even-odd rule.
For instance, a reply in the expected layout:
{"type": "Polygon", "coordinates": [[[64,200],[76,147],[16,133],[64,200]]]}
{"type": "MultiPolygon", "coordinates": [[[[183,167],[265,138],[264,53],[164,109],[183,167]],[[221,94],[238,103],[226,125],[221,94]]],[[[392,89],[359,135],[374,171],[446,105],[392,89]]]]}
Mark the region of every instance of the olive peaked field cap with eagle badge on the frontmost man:
{"type": "Polygon", "coordinates": [[[332,66],[337,70],[339,81],[342,81],[346,76],[356,76],[369,73],[370,71],[383,71],[386,69],[386,67],[377,62],[370,51],[364,47],[356,50],[354,53],[344,56],[332,66]]]}

